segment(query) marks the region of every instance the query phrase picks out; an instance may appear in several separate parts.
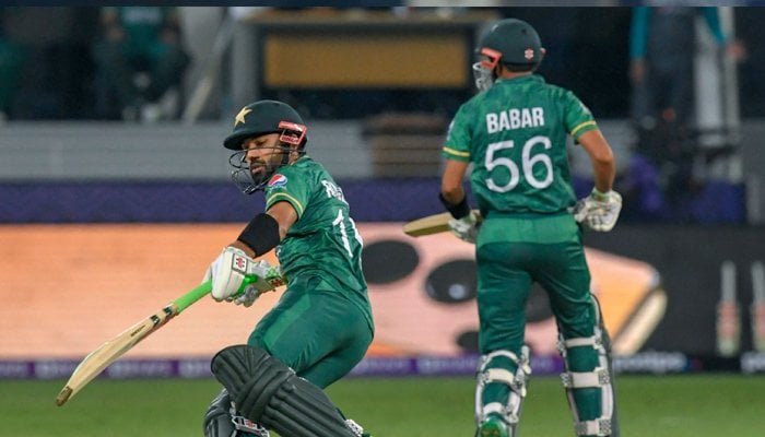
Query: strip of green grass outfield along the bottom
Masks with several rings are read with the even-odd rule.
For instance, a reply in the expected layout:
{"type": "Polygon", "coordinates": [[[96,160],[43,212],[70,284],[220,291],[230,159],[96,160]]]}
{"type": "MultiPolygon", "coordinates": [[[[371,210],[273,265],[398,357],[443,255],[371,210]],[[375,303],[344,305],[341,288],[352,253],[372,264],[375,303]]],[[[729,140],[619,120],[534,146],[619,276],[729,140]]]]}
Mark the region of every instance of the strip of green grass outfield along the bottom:
{"type": "MultiPolygon", "coordinates": [[[[0,380],[3,436],[201,436],[219,386],[201,380],[96,380],[66,405],[64,381],[0,380]]],[[[345,413],[376,437],[473,436],[472,378],[352,378],[329,389],[345,413]]],[[[765,435],[765,377],[621,376],[622,436],[765,435]]],[[[557,378],[531,380],[523,437],[572,436],[557,378]]]]}

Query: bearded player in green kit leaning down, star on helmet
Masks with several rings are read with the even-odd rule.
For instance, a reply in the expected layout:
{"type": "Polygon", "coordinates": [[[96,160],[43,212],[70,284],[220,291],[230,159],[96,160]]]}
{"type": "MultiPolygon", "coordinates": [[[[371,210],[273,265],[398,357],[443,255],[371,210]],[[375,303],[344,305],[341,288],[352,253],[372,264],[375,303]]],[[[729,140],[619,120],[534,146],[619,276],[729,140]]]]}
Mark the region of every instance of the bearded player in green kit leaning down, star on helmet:
{"type": "Polygon", "coordinates": [[[255,259],[274,248],[286,290],[247,344],[213,357],[224,389],[204,415],[207,437],[368,436],[322,391],[364,357],[374,322],[362,238],[341,188],[306,154],[307,130],[290,105],[259,101],[223,142],[232,178],[246,194],[264,191],[266,208],[208,269],[212,297],[252,305],[250,277],[275,269],[255,259]]]}

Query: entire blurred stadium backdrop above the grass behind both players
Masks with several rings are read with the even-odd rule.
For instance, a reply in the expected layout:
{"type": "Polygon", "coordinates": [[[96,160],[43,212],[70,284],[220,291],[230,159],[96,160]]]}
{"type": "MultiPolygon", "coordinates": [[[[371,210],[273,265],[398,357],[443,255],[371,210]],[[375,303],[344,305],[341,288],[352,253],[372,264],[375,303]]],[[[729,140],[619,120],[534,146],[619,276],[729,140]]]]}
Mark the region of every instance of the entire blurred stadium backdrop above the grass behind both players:
{"type": "MultiPolygon", "coordinates": [[[[201,281],[262,210],[222,147],[260,98],[304,116],[365,238],[377,336],[354,374],[472,375],[472,247],[400,228],[443,211],[439,150],[474,94],[473,49],[510,16],[616,153],[619,226],[585,237],[616,369],[765,371],[765,9],[290,3],[0,8],[0,378],[67,378],[201,281]]],[[[584,196],[589,164],[569,150],[584,196]]],[[[106,376],[208,378],[276,298],[202,300],[106,376]]],[[[539,290],[527,336],[536,373],[560,371],[539,290]]]]}

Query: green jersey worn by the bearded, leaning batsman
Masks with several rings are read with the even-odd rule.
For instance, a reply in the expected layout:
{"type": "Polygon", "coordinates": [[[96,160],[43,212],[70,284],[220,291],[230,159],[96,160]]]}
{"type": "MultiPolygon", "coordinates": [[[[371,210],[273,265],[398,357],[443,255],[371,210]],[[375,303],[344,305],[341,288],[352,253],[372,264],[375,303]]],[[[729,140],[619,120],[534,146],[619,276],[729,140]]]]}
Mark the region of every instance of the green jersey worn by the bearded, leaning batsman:
{"type": "Polygon", "coordinates": [[[367,316],[372,314],[362,273],[363,241],[340,187],[325,167],[303,156],[280,168],[266,186],[266,209],[286,201],[297,221],[276,247],[282,272],[290,279],[317,274],[367,316]]]}

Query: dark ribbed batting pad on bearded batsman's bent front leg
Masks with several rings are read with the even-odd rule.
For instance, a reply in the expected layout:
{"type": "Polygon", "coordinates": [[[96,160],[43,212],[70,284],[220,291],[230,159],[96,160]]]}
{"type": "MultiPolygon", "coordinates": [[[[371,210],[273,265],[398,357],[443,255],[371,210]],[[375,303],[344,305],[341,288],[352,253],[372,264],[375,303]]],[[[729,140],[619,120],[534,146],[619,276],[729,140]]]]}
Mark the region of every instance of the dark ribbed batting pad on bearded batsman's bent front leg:
{"type": "Polygon", "coordinates": [[[245,417],[282,436],[355,437],[321,389],[258,347],[228,346],[211,369],[245,417]]]}

